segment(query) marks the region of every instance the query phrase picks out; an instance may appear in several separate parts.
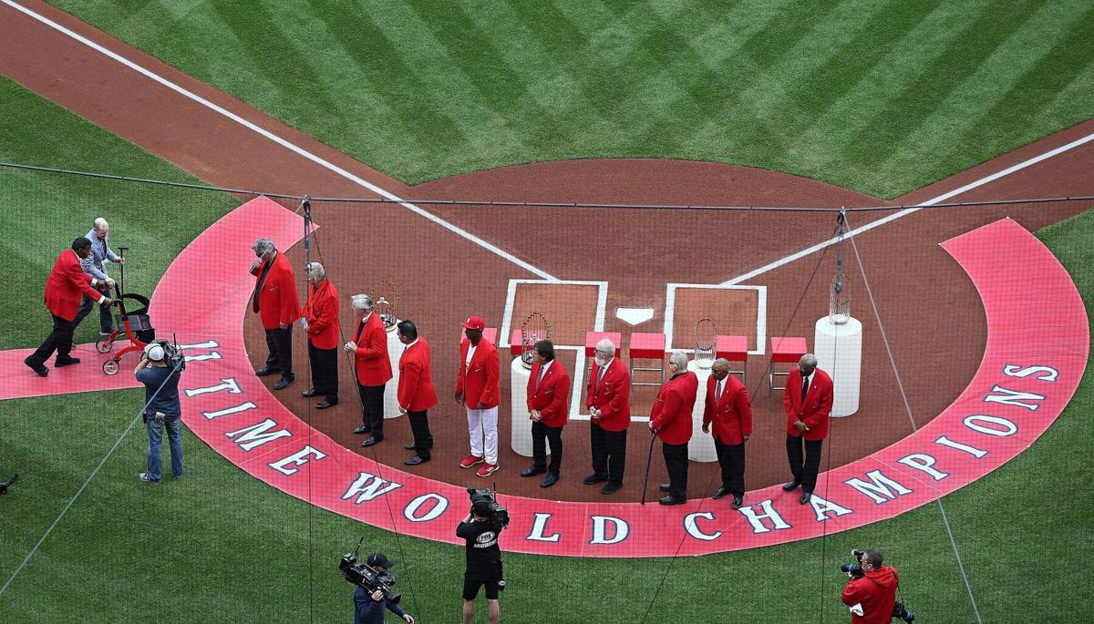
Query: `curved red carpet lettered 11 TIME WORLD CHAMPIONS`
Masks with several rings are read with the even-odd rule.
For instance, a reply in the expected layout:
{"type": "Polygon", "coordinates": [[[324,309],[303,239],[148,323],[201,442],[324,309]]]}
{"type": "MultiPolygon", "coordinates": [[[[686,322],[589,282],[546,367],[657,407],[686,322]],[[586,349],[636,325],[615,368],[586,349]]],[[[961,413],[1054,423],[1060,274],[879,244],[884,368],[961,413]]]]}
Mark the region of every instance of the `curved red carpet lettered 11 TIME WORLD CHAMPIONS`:
{"type": "MultiPolygon", "coordinates": [[[[152,318],[196,357],[184,377],[184,420],[230,461],[324,509],[404,534],[462,543],[463,487],[377,464],[284,408],[254,376],[243,341],[253,224],[281,248],[301,217],[258,198],[218,221],[176,258],[152,297],[152,318]],[[201,287],[194,289],[195,275],[201,287]],[[194,293],[199,294],[195,301],[194,293]],[[195,314],[195,313],[199,314],[195,314]],[[213,355],[216,354],[216,355],[213,355]],[[209,357],[209,358],[203,358],[209,357]]],[[[926,505],[1002,466],[1070,401],[1089,353],[1086,313],[1067,271],[1010,220],[942,244],[975,283],[988,321],[980,367],[962,395],[917,433],[821,475],[810,505],[779,486],[661,507],[503,496],[511,552],[605,557],[699,555],[845,531],[926,505]],[[1001,258],[1000,256],[1005,256],[1001,258]],[[1000,270],[1006,267],[1006,270],[1000,270]],[[1031,317],[1031,310],[1038,315],[1031,317]]]]}

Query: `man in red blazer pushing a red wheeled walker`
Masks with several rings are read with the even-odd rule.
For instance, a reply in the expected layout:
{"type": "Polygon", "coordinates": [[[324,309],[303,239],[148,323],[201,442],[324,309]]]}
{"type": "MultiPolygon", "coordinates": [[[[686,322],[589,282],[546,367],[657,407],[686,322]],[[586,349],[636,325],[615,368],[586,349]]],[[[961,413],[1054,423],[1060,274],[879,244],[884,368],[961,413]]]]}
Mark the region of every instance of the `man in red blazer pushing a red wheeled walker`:
{"type": "MultiPolygon", "coordinates": [[[[98,305],[114,305],[114,299],[100,293],[92,286],[98,285],[98,280],[83,272],[80,260],[91,254],[91,240],[81,236],[72,240],[72,247],[61,251],[54,262],[54,269],[46,281],[46,308],[54,317],[54,330],[34,353],[23,360],[39,377],[49,374],[46,360],[57,352],[55,365],[60,368],[70,364],[79,364],[79,357],[72,357],[72,331],[75,329],[73,319],[80,310],[80,301],[88,297],[98,302],[98,305]]],[[[114,286],[114,280],[104,280],[107,286],[114,286]]]]}

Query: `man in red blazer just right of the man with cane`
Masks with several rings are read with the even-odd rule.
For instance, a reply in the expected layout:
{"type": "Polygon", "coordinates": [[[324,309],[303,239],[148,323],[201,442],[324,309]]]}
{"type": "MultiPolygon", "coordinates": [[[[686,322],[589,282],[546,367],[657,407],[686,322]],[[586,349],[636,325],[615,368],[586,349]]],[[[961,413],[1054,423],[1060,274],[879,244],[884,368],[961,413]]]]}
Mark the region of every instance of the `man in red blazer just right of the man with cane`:
{"type": "Polygon", "coordinates": [[[710,433],[711,423],[718,466],[722,468],[722,486],[711,498],[733,494],[733,508],[740,509],[745,497],[745,443],[752,435],[752,401],[744,384],[730,375],[730,362],[724,357],[710,367],[702,433],[710,433]]]}

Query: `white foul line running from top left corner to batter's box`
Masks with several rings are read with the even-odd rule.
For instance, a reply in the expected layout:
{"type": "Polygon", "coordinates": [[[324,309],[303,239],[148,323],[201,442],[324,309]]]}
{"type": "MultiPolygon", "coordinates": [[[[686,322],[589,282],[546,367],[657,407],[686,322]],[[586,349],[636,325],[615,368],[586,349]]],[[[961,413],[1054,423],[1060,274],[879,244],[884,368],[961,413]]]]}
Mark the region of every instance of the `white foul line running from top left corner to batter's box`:
{"type": "Polygon", "coordinates": [[[534,273],[535,275],[538,275],[539,278],[542,278],[544,280],[547,280],[547,281],[551,281],[551,282],[556,281],[555,278],[552,275],[550,275],[550,273],[547,273],[546,271],[543,271],[540,269],[537,269],[536,267],[533,267],[528,262],[525,262],[524,260],[521,260],[520,258],[517,258],[516,256],[513,256],[512,254],[510,254],[508,251],[499,249],[498,247],[491,245],[490,243],[487,243],[486,240],[479,238],[478,236],[475,236],[474,234],[467,232],[466,229],[463,229],[462,227],[458,227],[458,226],[456,226],[456,225],[454,225],[452,223],[449,223],[447,221],[444,221],[440,216],[437,216],[435,214],[433,214],[433,213],[431,213],[431,212],[429,212],[427,210],[418,208],[417,205],[415,205],[412,203],[404,201],[403,199],[396,197],[394,193],[388,192],[388,191],[386,191],[386,190],[377,187],[376,185],[374,185],[374,184],[372,184],[372,183],[370,183],[370,181],[368,181],[368,180],[365,180],[363,178],[360,178],[360,177],[358,177],[358,176],[356,176],[356,175],[347,172],[346,169],[339,167],[338,165],[335,165],[334,163],[331,163],[329,161],[326,161],[326,160],[324,160],[324,158],[322,158],[322,157],[319,157],[319,156],[317,156],[317,155],[309,152],[307,150],[304,150],[303,148],[296,145],[295,143],[291,143],[288,140],[282,139],[281,137],[278,137],[277,134],[275,134],[275,133],[272,133],[272,132],[270,132],[268,130],[265,130],[265,129],[256,126],[255,123],[252,123],[251,121],[247,121],[246,119],[240,117],[238,115],[235,115],[234,113],[232,113],[232,111],[230,111],[230,110],[228,110],[225,108],[222,108],[222,107],[213,104],[212,102],[209,102],[208,99],[201,97],[200,95],[197,95],[196,93],[193,93],[190,91],[187,91],[186,89],[183,89],[182,86],[179,86],[179,85],[175,84],[174,82],[171,82],[170,80],[167,80],[167,79],[165,79],[165,78],[163,78],[163,76],[161,76],[161,75],[152,72],[151,70],[148,70],[148,69],[146,69],[146,68],[143,68],[143,67],[141,67],[141,66],[139,66],[139,64],[130,61],[129,59],[127,59],[127,58],[125,58],[125,57],[123,57],[123,56],[120,56],[120,55],[118,55],[116,52],[113,52],[113,51],[104,48],[103,46],[96,44],[95,42],[92,42],[91,39],[88,39],[86,37],[84,37],[82,35],[79,35],[79,34],[77,34],[77,33],[74,33],[74,32],[66,28],[65,26],[58,24],[57,22],[54,22],[53,20],[50,20],[50,19],[48,19],[48,17],[46,17],[44,15],[39,15],[38,13],[35,13],[34,11],[32,11],[32,10],[30,10],[30,9],[21,5],[21,4],[16,4],[12,0],[0,0],[0,2],[3,2],[4,4],[11,7],[12,9],[15,9],[16,11],[19,11],[21,13],[24,13],[24,14],[33,17],[34,20],[37,20],[38,22],[42,22],[43,24],[49,26],[50,28],[54,28],[54,30],[58,31],[59,33],[62,33],[62,34],[67,35],[68,37],[71,37],[71,38],[80,42],[81,44],[83,44],[83,45],[85,45],[85,46],[94,49],[95,51],[98,51],[102,55],[104,55],[104,56],[106,56],[108,58],[112,58],[112,59],[118,61],[119,63],[128,67],[129,69],[131,69],[131,70],[133,70],[133,71],[136,71],[136,72],[138,72],[140,74],[143,74],[144,76],[147,76],[147,78],[149,78],[149,79],[151,79],[151,80],[153,80],[153,81],[162,84],[163,86],[166,86],[167,89],[170,89],[170,90],[178,93],[179,95],[183,95],[183,96],[185,96],[185,97],[187,97],[189,99],[193,99],[194,102],[200,104],[201,106],[205,106],[206,108],[209,108],[210,110],[213,110],[216,113],[219,113],[220,115],[223,115],[224,117],[228,117],[232,121],[235,121],[236,123],[238,123],[238,125],[241,125],[241,126],[243,126],[243,127],[245,127],[245,128],[247,128],[249,130],[253,130],[253,131],[257,132],[258,134],[261,134],[263,137],[266,137],[270,141],[274,141],[275,143],[277,143],[277,144],[281,145],[281,146],[287,148],[288,150],[290,150],[292,152],[295,152],[296,154],[299,154],[299,155],[307,158],[309,161],[312,161],[313,163],[315,163],[315,164],[317,164],[317,165],[319,165],[319,166],[322,166],[322,167],[324,167],[326,169],[329,169],[329,170],[338,174],[339,176],[341,176],[341,177],[344,177],[344,178],[346,178],[346,179],[348,179],[350,181],[353,181],[353,183],[356,183],[356,184],[358,184],[358,185],[360,185],[360,186],[362,186],[362,187],[371,190],[372,192],[374,192],[374,193],[376,193],[379,196],[382,196],[382,197],[387,198],[387,199],[389,199],[392,201],[398,202],[399,205],[401,205],[403,208],[406,208],[410,212],[414,212],[415,214],[417,214],[419,216],[422,216],[424,219],[428,219],[429,221],[432,221],[433,223],[440,225],[441,227],[444,227],[445,229],[447,229],[447,231],[450,231],[450,232],[452,232],[452,233],[454,233],[454,234],[456,234],[456,235],[458,235],[458,236],[461,236],[463,238],[466,238],[467,240],[470,240],[472,243],[478,245],[479,247],[481,247],[481,248],[484,248],[484,249],[486,249],[486,250],[488,250],[488,251],[490,251],[492,254],[496,254],[496,255],[504,258],[505,260],[509,260],[510,262],[516,264],[517,267],[524,269],[525,271],[528,271],[529,273],[534,273]]]}

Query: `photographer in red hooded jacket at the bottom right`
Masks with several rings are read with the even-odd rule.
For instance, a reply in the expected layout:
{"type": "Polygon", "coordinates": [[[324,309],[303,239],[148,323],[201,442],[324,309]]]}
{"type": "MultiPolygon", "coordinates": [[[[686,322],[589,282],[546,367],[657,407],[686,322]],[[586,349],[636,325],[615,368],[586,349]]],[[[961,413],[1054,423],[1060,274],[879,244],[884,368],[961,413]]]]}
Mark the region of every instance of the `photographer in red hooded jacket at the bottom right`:
{"type": "Polygon", "coordinates": [[[893,566],[882,565],[881,551],[853,550],[858,564],[839,569],[849,577],[843,588],[843,604],[851,610],[851,624],[886,624],[894,617],[905,622],[916,619],[904,603],[896,601],[900,576],[893,566]]]}

